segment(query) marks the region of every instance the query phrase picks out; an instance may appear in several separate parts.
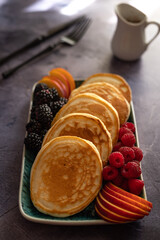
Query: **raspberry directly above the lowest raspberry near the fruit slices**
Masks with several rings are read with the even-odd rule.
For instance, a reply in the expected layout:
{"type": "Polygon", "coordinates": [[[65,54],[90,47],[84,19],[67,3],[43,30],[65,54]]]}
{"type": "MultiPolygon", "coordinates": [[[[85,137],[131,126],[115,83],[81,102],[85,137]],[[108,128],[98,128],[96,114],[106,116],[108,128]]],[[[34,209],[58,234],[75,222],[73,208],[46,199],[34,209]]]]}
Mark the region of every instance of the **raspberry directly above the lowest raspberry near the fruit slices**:
{"type": "Polygon", "coordinates": [[[141,174],[141,168],[135,162],[128,162],[121,168],[121,174],[125,178],[138,178],[141,174]]]}

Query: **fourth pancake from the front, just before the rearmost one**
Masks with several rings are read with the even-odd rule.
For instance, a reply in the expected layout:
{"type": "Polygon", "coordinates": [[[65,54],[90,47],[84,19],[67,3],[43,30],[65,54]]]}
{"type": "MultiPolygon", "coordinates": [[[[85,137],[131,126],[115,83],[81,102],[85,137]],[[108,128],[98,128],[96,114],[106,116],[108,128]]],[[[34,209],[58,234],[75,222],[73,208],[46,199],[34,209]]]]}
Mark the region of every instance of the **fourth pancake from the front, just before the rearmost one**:
{"type": "Polygon", "coordinates": [[[90,83],[72,91],[70,98],[81,93],[94,93],[107,100],[117,110],[120,124],[125,123],[130,114],[130,106],[121,92],[112,84],[105,82],[90,83]]]}

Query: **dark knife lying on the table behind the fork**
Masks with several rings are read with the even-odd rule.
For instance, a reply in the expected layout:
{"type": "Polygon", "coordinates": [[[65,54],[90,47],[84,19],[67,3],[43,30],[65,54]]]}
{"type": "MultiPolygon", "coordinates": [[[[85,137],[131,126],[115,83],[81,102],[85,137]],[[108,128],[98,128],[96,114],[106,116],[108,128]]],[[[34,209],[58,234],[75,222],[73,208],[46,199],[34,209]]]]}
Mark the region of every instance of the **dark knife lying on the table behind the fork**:
{"type": "Polygon", "coordinates": [[[63,30],[66,30],[67,28],[74,25],[82,17],[84,17],[84,16],[80,16],[78,18],[72,19],[71,21],[69,21],[67,23],[63,23],[63,24],[61,24],[57,27],[54,27],[54,28],[50,29],[46,34],[42,34],[42,35],[38,36],[37,38],[33,39],[31,42],[24,45],[22,48],[19,48],[19,49],[15,50],[14,52],[12,52],[11,54],[9,54],[8,56],[1,58],[0,59],[0,65],[4,64],[5,62],[7,62],[11,58],[15,57],[16,55],[24,52],[25,50],[28,50],[29,48],[32,48],[32,47],[35,47],[35,46],[39,45],[40,43],[46,41],[47,39],[56,35],[57,33],[60,33],[63,30]]]}

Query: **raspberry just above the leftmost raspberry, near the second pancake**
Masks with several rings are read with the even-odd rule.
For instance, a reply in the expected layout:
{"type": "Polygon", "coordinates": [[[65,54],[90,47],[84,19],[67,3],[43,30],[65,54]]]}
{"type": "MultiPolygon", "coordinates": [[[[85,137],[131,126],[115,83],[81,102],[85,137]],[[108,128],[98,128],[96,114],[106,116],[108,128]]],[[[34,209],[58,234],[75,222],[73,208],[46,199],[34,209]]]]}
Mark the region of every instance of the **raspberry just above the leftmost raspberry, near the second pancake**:
{"type": "Polygon", "coordinates": [[[124,157],[120,152],[113,152],[109,156],[109,163],[112,167],[120,168],[124,165],[124,157]]]}

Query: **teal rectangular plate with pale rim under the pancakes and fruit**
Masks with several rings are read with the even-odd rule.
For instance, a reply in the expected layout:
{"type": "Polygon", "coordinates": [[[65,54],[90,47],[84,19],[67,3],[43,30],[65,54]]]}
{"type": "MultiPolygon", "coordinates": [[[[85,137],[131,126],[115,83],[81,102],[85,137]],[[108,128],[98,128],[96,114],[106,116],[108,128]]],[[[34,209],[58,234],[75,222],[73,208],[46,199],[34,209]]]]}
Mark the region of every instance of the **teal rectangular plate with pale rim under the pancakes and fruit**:
{"type": "MultiPolygon", "coordinates": [[[[76,81],[76,86],[78,87],[82,83],[82,80],[76,81]]],[[[36,85],[36,84],[35,84],[36,85]]],[[[33,86],[33,90],[35,88],[33,86]]],[[[30,110],[32,108],[32,99],[30,102],[29,116],[28,121],[30,119],[30,110]]],[[[131,102],[131,113],[128,121],[133,122],[135,124],[136,132],[136,146],[139,146],[138,141],[138,133],[136,126],[136,119],[134,113],[133,103],[131,102]]],[[[54,224],[54,225],[98,225],[98,224],[112,224],[102,220],[99,216],[97,216],[94,208],[95,201],[93,201],[88,207],[86,207],[80,213],[77,213],[73,216],[67,218],[57,218],[52,217],[46,214],[39,212],[32,204],[30,198],[30,171],[32,164],[34,162],[35,156],[23,147],[23,156],[22,156],[22,169],[21,169],[21,180],[20,180],[20,189],[19,189],[19,208],[20,212],[24,218],[29,221],[45,223],[45,224],[54,224]]],[[[141,179],[142,179],[141,175],[141,179]]],[[[145,188],[141,193],[141,197],[147,199],[145,188]]]]}

